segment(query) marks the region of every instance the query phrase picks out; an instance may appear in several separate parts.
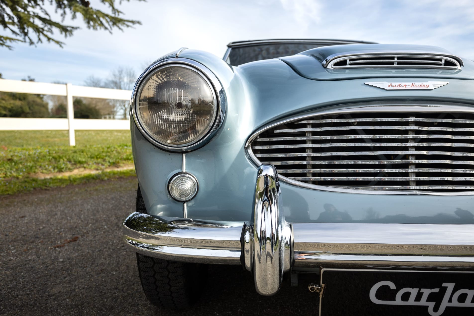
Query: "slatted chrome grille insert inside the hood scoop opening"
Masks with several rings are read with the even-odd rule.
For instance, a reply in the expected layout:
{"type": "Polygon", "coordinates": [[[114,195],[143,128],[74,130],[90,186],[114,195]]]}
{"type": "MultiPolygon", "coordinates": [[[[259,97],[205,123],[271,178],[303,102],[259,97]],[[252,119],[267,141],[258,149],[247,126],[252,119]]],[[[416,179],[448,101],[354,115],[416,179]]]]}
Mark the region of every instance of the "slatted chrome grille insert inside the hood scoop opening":
{"type": "Polygon", "coordinates": [[[329,69],[340,68],[435,68],[460,69],[456,58],[422,54],[360,54],[335,57],[324,64],[329,69]]]}

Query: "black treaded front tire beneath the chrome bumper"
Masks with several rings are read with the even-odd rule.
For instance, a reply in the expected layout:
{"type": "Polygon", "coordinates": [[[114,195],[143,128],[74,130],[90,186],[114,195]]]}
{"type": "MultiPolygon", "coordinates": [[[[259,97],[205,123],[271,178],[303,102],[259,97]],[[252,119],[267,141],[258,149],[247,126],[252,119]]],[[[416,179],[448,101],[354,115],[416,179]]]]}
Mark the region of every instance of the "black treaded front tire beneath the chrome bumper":
{"type": "MultiPolygon", "coordinates": [[[[145,203],[137,189],[137,212],[145,213],[145,203]]],[[[157,307],[183,309],[198,298],[206,278],[207,266],[174,262],[137,253],[138,274],[146,298],[157,307]]]]}

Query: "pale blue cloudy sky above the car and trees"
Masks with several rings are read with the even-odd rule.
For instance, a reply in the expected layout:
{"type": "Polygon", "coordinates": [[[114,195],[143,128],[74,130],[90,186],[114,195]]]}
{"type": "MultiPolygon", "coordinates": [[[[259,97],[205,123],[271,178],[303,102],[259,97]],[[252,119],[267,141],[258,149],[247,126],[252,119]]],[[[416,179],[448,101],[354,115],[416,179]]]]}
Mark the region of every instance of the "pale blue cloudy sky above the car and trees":
{"type": "MultiPolygon", "coordinates": [[[[91,6],[105,9],[98,0],[91,6]]],[[[132,67],[138,77],[146,65],[182,46],[222,57],[231,41],[265,38],[435,45],[474,60],[473,0],[130,0],[119,8],[123,18],[142,25],[109,34],[87,29],[80,17],[66,18],[65,24],[82,28],[60,38],[64,48],[0,48],[3,78],[29,75],[83,85],[87,77],[107,78],[120,66],[132,67]]]]}

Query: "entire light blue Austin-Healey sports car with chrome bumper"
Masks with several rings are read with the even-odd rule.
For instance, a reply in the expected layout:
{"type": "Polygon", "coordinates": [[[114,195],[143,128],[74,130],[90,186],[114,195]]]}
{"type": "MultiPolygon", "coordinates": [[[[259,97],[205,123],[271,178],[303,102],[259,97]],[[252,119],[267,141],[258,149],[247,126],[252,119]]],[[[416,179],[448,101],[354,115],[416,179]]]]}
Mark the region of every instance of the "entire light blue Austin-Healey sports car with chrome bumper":
{"type": "Polygon", "coordinates": [[[183,308],[205,264],[320,315],[471,315],[474,63],[426,45],[260,40],[181,48],[138,78],[137,209],[123,223],[146,297],[183,308]],[[247,273],[247,272],[242,272],[247,273]]]}

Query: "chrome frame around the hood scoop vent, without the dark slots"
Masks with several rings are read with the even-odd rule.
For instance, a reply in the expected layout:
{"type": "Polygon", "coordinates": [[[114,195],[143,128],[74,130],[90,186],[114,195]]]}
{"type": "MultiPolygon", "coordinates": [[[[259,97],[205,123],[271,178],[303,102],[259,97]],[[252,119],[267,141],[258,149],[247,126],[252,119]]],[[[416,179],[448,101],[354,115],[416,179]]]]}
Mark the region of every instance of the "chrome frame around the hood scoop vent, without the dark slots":
{"type": "MultiPolygon", "coordinates": [[[[334,67],[332,66],[334,63],[337,63],[340,60],[346,59],[346,58],[354,58],[354,57],[359,57],[359,58],[367,58],[367,57],[384,57],[387,55],[392,55],[392,56],[400,56],[400,57],[411,57],[413,55],[417,56],[423,56],[423,57],[428,57],[428,58],[446,58],[453,60],[455,64],[458,64],[459,67],[449,67],[449,66],[409,66],[409,65],[400,65],[400,66],[395,66],[395,67],[400,67],[400,68],[432,68],[432,69],[461,69],[461,66],[464,66],[463,60],[453,54],[447,54],[447,53],[442,53],[442,52],[430,52],[430,51],[408,51],[408,50],[401,50],[401,51],[384,51],[384,50],[371,50],[371,51],[355,51],[355,52],[345,52],[343,54],[337,53],[337,54],[332,54],[324,59],[324,61],[321,63],[323,67],[326,67],[328,69],[338,69],[338,68],[373,68],[371,66],[341,66],[341,67],[334,67]]],[[[376,65],[375,67],[377,68],[385,68],[389,67],[390,65],[383,65],[379,66],[376,65]]],[[[392,66],[393,67],[393,66],[392,66]]]]}

